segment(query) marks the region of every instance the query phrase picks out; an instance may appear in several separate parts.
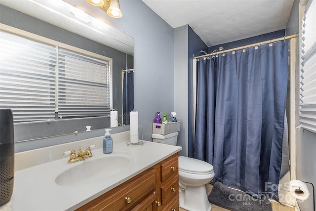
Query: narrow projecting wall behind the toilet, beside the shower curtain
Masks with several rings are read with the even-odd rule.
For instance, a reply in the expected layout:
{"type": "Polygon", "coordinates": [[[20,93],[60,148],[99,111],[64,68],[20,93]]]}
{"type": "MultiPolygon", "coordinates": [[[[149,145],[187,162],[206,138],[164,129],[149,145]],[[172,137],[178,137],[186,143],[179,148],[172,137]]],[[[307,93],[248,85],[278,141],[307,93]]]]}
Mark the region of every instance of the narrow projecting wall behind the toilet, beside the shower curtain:
{"type": "Polygon", "coordinates": [[[207,46],[189,25],[174,29],[174,108],[181,122],[177,144],[182,146],[180,155],[189,157],[194,151],[193,57],[201,49],[207,46]]]}

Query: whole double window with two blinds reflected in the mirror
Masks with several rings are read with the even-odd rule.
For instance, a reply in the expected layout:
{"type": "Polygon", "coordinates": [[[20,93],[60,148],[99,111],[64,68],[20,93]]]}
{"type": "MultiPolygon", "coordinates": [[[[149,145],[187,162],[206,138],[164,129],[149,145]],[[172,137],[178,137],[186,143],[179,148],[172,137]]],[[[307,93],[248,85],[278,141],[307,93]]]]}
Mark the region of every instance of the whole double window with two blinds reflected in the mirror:
{"type": "Polygon", "coordinates": [[[0,108],[10,108],[15,123],[109,115],[108,61],[4,31],[0,37],[0,108]]]}

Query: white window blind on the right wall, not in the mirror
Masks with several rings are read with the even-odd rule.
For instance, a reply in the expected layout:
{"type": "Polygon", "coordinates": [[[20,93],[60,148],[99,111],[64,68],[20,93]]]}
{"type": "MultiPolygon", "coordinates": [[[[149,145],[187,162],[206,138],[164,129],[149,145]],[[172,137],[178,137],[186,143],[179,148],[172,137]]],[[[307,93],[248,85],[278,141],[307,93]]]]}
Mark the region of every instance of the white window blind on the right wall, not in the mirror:
{"type": "Polygon", "coordinates": [[[300,123],[316,132],[316,0],[309,0],[302,26],[300,123]]]}

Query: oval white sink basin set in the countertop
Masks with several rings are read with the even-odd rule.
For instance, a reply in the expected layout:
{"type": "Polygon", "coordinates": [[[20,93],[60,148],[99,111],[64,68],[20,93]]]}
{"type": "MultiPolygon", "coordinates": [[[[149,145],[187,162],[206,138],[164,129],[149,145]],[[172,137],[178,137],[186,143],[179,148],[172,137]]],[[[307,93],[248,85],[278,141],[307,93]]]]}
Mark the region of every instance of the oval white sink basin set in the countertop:
{"type": "Polygon", "coordinates": [[[79,165],[74,167],[71,167],[71,165],[74,164],[67,164],[71,168],[56,177],[56,184],[62,186],[77,186],[105,180],[119,173],[121,170],[124,170],[124,168],[131,163],[127,156],[122,155],[110,155],[90,160],[92,158],[79,161],[79,165]]]}

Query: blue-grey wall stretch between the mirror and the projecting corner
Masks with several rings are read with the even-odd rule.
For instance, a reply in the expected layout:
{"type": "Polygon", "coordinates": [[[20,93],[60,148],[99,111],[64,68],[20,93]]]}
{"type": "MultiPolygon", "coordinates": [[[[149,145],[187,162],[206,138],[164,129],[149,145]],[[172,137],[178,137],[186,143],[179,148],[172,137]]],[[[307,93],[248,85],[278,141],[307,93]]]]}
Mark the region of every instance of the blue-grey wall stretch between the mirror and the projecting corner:
{"type": "Polygon", "coordinates": [[[144,139],[152,140],[156,112],[168,114],[171,120],[174,109],[173,28],[141,0],[119,2],[123,16],[105,21],[135,39],[134,105],[144,139]]]}

